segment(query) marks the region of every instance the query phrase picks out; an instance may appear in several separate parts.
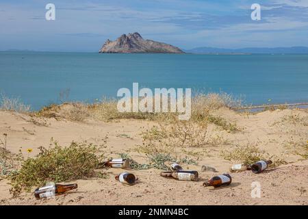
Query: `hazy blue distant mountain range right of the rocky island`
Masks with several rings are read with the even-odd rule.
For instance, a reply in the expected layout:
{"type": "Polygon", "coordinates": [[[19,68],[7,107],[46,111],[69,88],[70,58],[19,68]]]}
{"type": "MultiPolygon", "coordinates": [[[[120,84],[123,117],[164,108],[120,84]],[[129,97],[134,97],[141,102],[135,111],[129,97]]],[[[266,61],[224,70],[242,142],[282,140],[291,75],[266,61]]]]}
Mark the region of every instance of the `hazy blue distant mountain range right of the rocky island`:
{"type": "Polygon", "coordinates": [[[216,53],[255,53],[255,54],[290,54],[290,53],[297,53],[297,54],[308,54],[308,47],[276,47],[276,48],[268,48],[268,47],[249,47],[243,49],[220,49],[220,48],[212,48],[212,47],[197,47],[194,49],[184,50],[185,53],[207,53],[207,54],[216,54],[216,53]]]}

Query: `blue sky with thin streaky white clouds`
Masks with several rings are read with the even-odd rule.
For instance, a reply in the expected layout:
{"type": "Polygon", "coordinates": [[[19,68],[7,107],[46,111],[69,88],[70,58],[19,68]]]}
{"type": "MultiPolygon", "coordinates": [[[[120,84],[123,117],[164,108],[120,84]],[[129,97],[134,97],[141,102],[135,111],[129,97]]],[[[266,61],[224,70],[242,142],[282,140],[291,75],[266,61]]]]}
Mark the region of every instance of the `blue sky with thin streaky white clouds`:
{"type": "Polygon", "coordinates": [[[181,49],[308,47],[308,0],[1,0],[0,51],[99,51],[138,31],[181,49]],[[47,3],[55,21],[47,21],[47,3]],[[261,20],[251,5],[261,5],[261,20]]]}

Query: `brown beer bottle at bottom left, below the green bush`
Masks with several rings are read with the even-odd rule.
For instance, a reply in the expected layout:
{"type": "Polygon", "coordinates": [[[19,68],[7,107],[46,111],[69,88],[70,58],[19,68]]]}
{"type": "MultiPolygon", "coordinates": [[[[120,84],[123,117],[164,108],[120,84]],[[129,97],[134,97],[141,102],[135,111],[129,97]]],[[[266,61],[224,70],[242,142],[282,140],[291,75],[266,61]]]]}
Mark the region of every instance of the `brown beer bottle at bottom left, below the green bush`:
{"type": "Polygon", "coordinates": [[[75,190],[77,188],[78,185],[76,183],[68,185],[51,183],[50,185],[45,185],[44,187],[37,188],[34,191],[34,196],[36,196],[36,198],[49,198],[57,194],[62,194],[70,190],[75,190]]]}

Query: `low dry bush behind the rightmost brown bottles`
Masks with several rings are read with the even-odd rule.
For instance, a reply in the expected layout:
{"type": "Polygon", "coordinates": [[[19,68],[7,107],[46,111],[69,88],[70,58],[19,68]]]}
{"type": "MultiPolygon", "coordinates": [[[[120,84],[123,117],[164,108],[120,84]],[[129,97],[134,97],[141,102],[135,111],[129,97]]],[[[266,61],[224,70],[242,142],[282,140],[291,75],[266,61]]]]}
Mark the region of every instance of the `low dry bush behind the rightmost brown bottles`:
{"type": "Polygon", "coordinates": [[[278,158],[275,155],[269,155],[265,151],[261,151],[257,146],[245,145],[235,146],[234,149],[220,151],[220,156],[230,162],[239,162],[241,164],[253,164],[259,160],[271,160],[272,164],[270,167],[276,167],[281,164],[287,164],[283,159],[278,158]]]}

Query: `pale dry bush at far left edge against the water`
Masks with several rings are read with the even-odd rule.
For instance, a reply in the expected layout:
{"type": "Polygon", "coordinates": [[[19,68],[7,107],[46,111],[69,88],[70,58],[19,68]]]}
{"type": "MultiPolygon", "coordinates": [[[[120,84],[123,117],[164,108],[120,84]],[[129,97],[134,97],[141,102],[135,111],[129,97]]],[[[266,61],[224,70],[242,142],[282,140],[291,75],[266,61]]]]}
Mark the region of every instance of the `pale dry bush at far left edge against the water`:
{"type": "Polygon", "coordinates": [[[0,110],[12,112],[29,112],[30,106],[25,105],[19,98],[9,98],[1,94],[0,110]]]}

